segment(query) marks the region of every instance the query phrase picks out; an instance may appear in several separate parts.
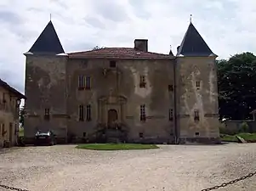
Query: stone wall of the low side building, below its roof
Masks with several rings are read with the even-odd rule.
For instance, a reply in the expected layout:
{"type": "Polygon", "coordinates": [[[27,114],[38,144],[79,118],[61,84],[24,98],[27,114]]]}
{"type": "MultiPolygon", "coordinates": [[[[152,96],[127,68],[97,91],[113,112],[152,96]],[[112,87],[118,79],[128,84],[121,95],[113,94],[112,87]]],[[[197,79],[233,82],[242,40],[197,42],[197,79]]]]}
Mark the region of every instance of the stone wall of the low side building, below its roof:
{"type": "Polygon", "coordinates": [[[3,147],[3,141],[9,141],[11,145],[17,141],[19,108],[16,107],[16,99],[14,94],[0,87],[0,148],[3,147]],[[3,134],[4,131],[6,133],[3,134]]]}

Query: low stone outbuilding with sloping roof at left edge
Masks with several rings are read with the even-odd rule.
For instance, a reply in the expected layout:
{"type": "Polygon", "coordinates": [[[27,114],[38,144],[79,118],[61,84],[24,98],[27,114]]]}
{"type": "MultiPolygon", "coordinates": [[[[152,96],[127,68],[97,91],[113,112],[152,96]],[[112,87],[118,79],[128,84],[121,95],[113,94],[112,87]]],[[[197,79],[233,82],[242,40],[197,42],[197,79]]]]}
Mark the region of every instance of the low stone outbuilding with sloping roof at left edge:
{"type": "Polygon", "coordinates": [[[0,148],[17,143],[22,98],[22,93],[0,79],[0,148]]]}

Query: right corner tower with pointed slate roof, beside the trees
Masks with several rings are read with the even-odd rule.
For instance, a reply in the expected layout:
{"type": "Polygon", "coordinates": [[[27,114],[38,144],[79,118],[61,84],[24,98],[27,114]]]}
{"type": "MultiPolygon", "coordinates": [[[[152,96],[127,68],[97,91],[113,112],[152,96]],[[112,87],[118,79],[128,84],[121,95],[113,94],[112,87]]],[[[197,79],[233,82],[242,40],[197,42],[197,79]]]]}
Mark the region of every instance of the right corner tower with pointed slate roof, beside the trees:
{"type": "Polygon", "coordinates": [[[176,126],[180,143],[219,143],[216,58],[190,23],[176,55],[176,126]]]}

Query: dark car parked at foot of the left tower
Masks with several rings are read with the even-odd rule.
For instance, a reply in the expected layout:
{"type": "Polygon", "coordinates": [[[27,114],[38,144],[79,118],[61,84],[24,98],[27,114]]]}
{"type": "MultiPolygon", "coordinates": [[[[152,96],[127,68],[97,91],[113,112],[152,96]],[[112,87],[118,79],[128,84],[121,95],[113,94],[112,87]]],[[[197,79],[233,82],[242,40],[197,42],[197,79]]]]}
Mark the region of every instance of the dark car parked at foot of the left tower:
{"type": "Polygon", "coordinates": [[[49,145],[56,144],[55,134],[52,131],[41,132],[38,131],[35,136],[35,145],[49,145]]]}

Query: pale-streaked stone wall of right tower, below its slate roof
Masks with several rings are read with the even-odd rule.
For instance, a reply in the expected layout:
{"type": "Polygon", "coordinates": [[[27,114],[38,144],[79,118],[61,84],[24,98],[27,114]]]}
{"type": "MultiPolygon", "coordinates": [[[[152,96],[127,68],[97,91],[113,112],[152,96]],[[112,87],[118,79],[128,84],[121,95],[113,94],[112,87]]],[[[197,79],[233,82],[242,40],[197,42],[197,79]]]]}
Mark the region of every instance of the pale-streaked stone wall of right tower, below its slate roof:
{"type": "Polygon", "coordinates": [[[215,58],[179,57],[176,70],[180,138],[219,138],[215,58]],[[196,81],[200,81],[200,87],[196,87],[196,81]],[[199,121],[194,120],[195,110],[199,121]]]}

